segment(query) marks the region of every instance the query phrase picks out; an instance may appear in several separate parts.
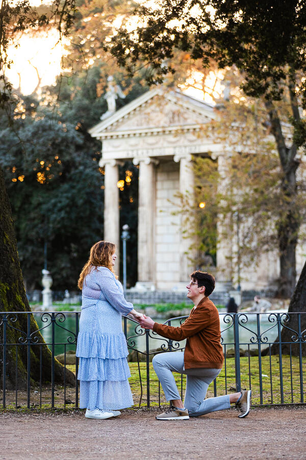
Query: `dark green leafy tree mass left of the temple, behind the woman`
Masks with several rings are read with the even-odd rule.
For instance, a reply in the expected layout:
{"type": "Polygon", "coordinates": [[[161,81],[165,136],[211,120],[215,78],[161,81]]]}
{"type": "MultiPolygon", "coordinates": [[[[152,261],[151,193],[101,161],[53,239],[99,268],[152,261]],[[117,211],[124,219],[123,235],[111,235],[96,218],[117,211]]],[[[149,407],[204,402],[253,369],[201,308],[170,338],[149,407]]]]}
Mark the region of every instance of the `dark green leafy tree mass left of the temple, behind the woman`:
{"type": "Polygon", "coordinates": [[[47,243],[57,289],[75,289],[90,245],[103,236],[103,176],[84,137],[50,115],[0,133],[19,258],[28,288],[38,288],[47,243]],[[96,164],[96,162],[95,162],[96,164]]]}

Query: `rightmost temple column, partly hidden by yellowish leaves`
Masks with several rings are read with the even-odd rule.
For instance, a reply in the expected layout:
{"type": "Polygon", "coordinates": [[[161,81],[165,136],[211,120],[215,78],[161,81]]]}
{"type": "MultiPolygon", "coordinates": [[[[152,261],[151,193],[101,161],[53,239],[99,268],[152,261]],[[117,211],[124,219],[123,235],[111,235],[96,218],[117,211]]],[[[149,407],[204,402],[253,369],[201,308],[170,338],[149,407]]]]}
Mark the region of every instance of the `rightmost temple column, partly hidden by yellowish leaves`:
{"type": "MultiPolygon", "coordinates": [[[[219,190],[221,193],[226,192],[227,187],[227,169],[228,162],[231,158],[218,156],[218,172],[220,175],[219,190]]],[[[217,222],[217,274],[216,290],[230,291],[233,289],[233,242],[231,238],[231,216],[219,215],[217,222]]]]}

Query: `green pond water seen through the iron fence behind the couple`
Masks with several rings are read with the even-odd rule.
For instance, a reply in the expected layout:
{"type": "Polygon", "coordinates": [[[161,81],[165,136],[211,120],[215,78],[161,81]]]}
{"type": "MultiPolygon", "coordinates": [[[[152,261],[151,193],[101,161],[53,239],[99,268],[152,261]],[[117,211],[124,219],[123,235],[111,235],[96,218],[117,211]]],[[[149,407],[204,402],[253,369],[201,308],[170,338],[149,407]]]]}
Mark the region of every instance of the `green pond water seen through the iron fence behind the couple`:
{"type": "MultiPolygon", "coordinates": [[[[262,340],[265,340],[267,343],[272,343],[277,337],[277,322],[276,322],[276,314],[277,312],[273,312],[270,316],[269,321],[269,314],[241,314],[239,315],[239,343],[240,348],[247,349],[248,344],[250,348],[257,348],[257,344],[254,343],[257,341],[258,337],[258,328],[260,331],[260,336],[262,340]],[[273,321],[274,319],[274,321],[273,321]],[[266,337],[266,339],[264,339],[266,337]]],[[[40,328],[44,328],[41,330],[41,333],[48,344],[49,348],[51,348],[52,343],[52,327],[50,325],[50,320],[43,322],[41,320],[41,316],[43,313],[36,313],[35,319],[40,328]]],[[[48,315],[45,317],[48,318],[48,315]]],[[[75,329],[75,318],[76,314],[73,312],[65,312],[65,313],[58,313],[57,321],[55,324],[55,355],[60,353],[64,353],[66,348],[66,352],[68,350],[75,351],[75,344],[71,344],[69,342],[73,342],[75,339],[76,329],[75,329]],[[60,318],[64,319],[64,321],[60,321],[60,318]],[[70,337],[70,338],[69,338],[70,337]],[[66,344],[66,345],[65,345],[66,344]]],[[[154,318],[153,318],[154,319],[154,318]]],[[[161,318],[157,318],[156,321],[159,323],[163,323],[164,320],[161,318]]],[[[179,326],[180,319],[173,319],[171,320],[171,326],[179,326]]],[[[144,352],[146,349],[146,337],[144,331],[141,330],[140,326],[133,323],[129,319],[126,321],[127,326],[127,337],[129,339],[129,346],[132,349],[137,349],[141,352],[144,352]],[[135,332],[136,331],[136,332],[135,332]],[[137,333],[138,332],[138,333],[137,333]],[[142,332],[142,335],[139,335],[139,332],[142,332]],[[135,342],[135,344],[133,343],[135,342]]],[[[221,336],[223,339],[223,344],[226,344],[226,349],[234,347],[234,327],[233,327],[233,320],[230,315],[226,315],[226,313],[220,313],[220,327],[221,327],[221,336]]],[[[162,344],[165,344],[167,347],[167,340],[159,335],[152,334],[150,332],[149,338],[149,350],[155,350],[160,348],[162,344]]],[[[180,342],[180,348],[184,347],[185,341],[180,342]]],[[[265,344],[263,345],[265,347],[265,344]]],[[[176,347],[175,347],[176,348],[176,347]]]]}

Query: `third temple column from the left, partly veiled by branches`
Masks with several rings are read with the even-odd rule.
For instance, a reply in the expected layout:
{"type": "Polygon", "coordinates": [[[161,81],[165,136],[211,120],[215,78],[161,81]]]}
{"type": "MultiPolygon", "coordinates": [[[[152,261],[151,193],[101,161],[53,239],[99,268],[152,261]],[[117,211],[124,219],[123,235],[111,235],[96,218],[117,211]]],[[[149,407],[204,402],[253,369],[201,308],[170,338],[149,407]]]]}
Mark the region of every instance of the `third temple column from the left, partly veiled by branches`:
{"type": "MultiPolygon", "coordinates": [[[[180,162],[180,193],[187,197],[187,200],[192,207],[194,205],[194,172],[192,166],[191,155],[174,155],[174,162],[180,162]]],[[[194,270],[195,249],[190,249],[194,243],[194,238],[188,236],[189,226],[186,223],[184,215],[181,215],[180,229],[180,283],[185,287],[189,280],[190,273],[194,270]]]]}

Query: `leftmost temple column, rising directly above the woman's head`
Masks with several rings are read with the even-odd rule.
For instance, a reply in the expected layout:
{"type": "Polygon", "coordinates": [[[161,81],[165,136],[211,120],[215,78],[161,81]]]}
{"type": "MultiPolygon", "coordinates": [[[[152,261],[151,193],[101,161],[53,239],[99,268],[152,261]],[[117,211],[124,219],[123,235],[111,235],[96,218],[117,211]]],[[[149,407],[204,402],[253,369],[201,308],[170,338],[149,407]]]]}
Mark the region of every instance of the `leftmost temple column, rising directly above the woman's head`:
{"type": "Polygon", "coordinates": [[[117,246],[115,271],[119,273],[120,263],[120,228],[119,228],[119,180],[118,163],[115,159],[99,162],[101,168],[105,168],[104,176],[104,241],[115,243],[117,246]]]}

